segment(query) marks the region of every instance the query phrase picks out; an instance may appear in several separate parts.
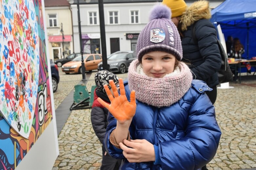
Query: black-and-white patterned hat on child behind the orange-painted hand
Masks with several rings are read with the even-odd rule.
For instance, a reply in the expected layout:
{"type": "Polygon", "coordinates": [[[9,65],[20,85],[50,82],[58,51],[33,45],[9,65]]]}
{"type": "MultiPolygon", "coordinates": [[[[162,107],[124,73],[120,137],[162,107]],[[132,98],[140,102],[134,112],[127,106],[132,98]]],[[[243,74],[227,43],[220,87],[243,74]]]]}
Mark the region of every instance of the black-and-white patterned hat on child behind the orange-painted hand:
{"type": "Polygon", "coordinates": [[[104,85],[108,85],[109,89],[111,86],[109,85],[109,80],[113,80],[115,84],[119,83],[118,77],[109,72],[108,70],[101,70],[98,71],[95,76],[95,83],[97,85],[98,90],[102,91],[105,93],[104,85]]]}

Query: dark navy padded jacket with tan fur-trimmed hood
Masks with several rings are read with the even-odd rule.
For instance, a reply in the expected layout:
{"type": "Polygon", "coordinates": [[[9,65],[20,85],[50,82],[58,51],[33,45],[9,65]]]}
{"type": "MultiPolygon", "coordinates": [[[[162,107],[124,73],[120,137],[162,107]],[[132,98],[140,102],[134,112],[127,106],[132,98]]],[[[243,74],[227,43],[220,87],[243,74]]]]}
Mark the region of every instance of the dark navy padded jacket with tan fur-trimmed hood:
{"type": "Polygon", "coordinates": [[[219,84],[217,71],[221,67],[221,55],[217,33],[207,1],[194,2],[181,17],[183,61],[190,63],[193,78],[203,80],[209,87],[219,84]],[[195,35],[193,35],[193,28],[195,35]],[[195,38],[193,38],[195,37],[195,38]]]}

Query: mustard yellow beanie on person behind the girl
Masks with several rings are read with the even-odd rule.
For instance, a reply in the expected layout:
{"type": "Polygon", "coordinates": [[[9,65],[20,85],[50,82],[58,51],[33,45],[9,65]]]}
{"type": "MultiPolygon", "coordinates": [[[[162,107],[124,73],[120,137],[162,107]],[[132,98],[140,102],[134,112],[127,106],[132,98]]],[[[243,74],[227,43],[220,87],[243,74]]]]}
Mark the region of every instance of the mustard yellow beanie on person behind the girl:
{"type": "Polygon", "coordinates": [[[181,16],[187,7],[184,0],[163,0],[162,3],[171,9],[171,17],[181,16]]]}

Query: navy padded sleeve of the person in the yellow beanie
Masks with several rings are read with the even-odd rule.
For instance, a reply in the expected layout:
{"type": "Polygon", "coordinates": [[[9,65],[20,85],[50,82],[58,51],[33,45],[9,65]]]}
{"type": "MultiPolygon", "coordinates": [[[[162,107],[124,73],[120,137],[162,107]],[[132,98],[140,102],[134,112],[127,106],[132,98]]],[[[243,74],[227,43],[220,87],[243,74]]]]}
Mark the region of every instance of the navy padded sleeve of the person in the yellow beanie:
{"type": "Polygon", "coordinates": [[[221,55],[217,44],[216,30],[209,20],[196,22],[195,36],[204,62],[191,68],[198,80],[207,80],[221,68],[221,55]]]}

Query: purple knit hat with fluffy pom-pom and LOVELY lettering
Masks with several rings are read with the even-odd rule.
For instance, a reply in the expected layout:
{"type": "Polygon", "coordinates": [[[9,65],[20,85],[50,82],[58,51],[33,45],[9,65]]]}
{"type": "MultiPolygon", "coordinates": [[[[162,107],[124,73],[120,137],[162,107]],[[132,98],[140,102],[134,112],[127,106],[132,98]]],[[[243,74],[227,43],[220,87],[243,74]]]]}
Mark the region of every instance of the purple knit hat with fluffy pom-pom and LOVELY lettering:
{"type": "Polygon", "coordinates": [[[182,59],[182,46],[179,32],[170,20],[171,10],[166,5],[156,5],[149,15],[149,23],[141,31],[136,54],[139,61],[144,54],[163,51],[182,59]]]}

